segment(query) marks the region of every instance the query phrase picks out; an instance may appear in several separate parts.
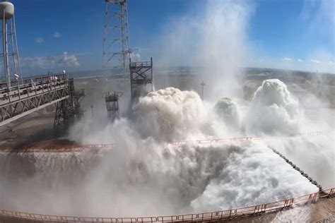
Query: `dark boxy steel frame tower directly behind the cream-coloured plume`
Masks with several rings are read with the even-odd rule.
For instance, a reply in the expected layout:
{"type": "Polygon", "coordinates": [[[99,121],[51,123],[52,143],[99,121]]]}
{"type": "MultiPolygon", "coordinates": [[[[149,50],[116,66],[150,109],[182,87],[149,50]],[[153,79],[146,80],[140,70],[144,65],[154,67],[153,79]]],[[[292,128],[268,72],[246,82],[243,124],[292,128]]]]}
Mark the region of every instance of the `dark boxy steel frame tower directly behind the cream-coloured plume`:
{"type": "Polygon", "coordinates": [[[131,100],[136,102],[139,97],[153,91],[153,58],[145,62],[131,62],[129,59],[131,100]],[[150,88],[147,88],[150,85],[150,88]]]}

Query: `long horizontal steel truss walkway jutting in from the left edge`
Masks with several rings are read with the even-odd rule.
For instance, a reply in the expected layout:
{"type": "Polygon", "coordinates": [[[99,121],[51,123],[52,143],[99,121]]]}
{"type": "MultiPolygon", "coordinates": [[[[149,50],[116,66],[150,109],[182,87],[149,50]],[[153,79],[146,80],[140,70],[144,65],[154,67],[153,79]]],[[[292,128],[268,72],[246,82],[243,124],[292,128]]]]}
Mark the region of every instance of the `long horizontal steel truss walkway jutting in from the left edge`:
{"type": "Polygon", "coordinates": [[[67,73],[0,83],[0,126],[69,98],[67,73]]]}

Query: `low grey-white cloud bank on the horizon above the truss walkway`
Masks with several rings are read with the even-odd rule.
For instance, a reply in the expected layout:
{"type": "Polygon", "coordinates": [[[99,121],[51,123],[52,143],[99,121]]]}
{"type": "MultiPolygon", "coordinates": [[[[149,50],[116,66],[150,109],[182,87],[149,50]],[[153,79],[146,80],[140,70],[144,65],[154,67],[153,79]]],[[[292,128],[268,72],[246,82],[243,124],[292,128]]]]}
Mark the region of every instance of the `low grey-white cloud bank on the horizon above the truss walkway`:
{"type": "Polygon", "coordinates": [[[77,57],[64,52],[57,56],[34,56],[21,60],[21,64],[26,68],[74,68],[80,66],[77,57]]]}

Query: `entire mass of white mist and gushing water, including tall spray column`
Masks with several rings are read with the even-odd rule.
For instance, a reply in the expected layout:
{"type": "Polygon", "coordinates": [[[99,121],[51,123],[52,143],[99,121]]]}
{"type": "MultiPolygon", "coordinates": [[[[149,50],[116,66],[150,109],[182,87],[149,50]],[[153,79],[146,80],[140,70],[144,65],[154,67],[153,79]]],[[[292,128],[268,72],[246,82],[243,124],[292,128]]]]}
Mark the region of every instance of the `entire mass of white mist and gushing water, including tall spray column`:
{"type": "MultiPolygon", "coordinates": [[[[165,86],[140,97],[131,116],[110,122],[99,110],[66,136],[78,144],[113,143],[110,149],[0,152],[2,208],[143,217],[227,210],[318,191],[270,147],[324,188],[335,186],[333,135],[297,136],[334,128],[329,124],[334,117],[311,119],[305,104],[278,79],[264,80],[252,100],[244,100],[240,68],[249,55],[246,32],[254,6],[204,4],[165,27],[158,64],[173,66],[184,57],[198,66],[193,72],[208,85],[205,100],[195,90],[165,86]],[[249,135],[266,140],[194,142],[249,135]],[[186,142],[173,144],[180,140],[186,142]]],[[[127,107],[129,97],[122,100],[127,107]]]]}

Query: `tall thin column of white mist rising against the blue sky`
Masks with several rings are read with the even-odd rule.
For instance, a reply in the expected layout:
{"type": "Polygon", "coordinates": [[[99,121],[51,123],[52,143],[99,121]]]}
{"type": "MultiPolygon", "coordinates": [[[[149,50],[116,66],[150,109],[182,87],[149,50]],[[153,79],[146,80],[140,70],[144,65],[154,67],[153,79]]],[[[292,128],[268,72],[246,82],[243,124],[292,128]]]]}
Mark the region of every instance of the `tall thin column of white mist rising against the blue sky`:
{"type": "Polygon", "coordinates": [[[249,1],[199,1],[163,26],[157,44],[160,66],[192,66],[211,88],[210,100],[242,92],[237,79],[249,55],[247,28],[254,6],[249,1]]]}

